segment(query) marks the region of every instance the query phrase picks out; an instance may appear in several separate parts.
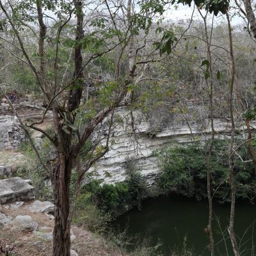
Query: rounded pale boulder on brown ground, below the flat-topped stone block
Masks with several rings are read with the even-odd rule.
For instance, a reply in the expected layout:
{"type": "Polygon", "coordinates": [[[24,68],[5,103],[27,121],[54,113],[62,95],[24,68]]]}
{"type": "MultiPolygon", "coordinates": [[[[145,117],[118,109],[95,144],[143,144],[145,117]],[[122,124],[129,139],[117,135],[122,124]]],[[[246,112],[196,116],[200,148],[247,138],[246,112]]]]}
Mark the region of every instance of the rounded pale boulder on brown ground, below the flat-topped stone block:
{"type": "Polygon", "coordinates": [[[18,215],[6,227],[13,231],[32,232],[38,229],[38,224],[29,215],[18,215]]]}

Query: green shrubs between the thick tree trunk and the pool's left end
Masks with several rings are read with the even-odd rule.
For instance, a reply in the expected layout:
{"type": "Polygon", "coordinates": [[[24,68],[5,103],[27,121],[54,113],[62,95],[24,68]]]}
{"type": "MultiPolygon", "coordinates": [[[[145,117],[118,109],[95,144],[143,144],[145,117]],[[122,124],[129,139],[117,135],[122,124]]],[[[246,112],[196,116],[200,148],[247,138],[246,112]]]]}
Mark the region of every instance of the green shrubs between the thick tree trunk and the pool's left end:
{"type": "MultiPolygon", "coordinates": [[[[127,209],[140,207],[145,195],[146,184],[138,172],[129,173],[125,181],[115,184],[102,184],[99,180],[92,179],[81,188],[77,198],[76,211],[81,218],[76,218],[76,222],[91,226],[90,223],[99,218],[99,223],[108,223],[111,218],[116,218],[127,209]]],[[[101,224],[99,226],[102,228],[101,224]]]]}

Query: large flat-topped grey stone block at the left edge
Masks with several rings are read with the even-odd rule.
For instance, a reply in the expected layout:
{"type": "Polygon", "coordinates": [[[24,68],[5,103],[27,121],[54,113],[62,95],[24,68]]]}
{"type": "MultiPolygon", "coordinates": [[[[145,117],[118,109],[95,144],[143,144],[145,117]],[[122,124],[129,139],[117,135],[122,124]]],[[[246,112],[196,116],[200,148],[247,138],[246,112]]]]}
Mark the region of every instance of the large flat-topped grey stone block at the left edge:
{"type": "Polygon", "coordinates": [[[25,180],[19,177],[0,180],[0,204],[32,200],[34,198],[35,189],[25,180]]]}

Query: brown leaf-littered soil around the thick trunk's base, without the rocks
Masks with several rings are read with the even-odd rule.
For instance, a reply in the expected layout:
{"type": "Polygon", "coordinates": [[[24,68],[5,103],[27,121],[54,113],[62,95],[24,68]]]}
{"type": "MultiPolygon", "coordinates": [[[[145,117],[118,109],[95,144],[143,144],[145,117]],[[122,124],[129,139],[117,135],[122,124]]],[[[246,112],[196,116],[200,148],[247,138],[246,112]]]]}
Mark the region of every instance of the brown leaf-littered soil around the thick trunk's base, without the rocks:
{"type": "MultiPolygon", "coordinates": [[[[17,215],[30,215],[33,221],[40,227],[53,227],[54,220],[50,220],[47,214],[42,212],[32,213],[29,209],[31,202],[26,202],[18,209],[9,205],[0,205],[0,211],[6,216],[14,218],[17,215]]],[[[125,256],[110,241],[84,230],[84,228],[72,226],[72,232],[76,236],[72,241],[72,249],[76,250],[79,256],[125,256]]],[[[34,232],[22,233],[11,232],[0,227],[0,246],[13,247],[15,256],[51,256],[52,241],[35,235],[34,232]]]]}

